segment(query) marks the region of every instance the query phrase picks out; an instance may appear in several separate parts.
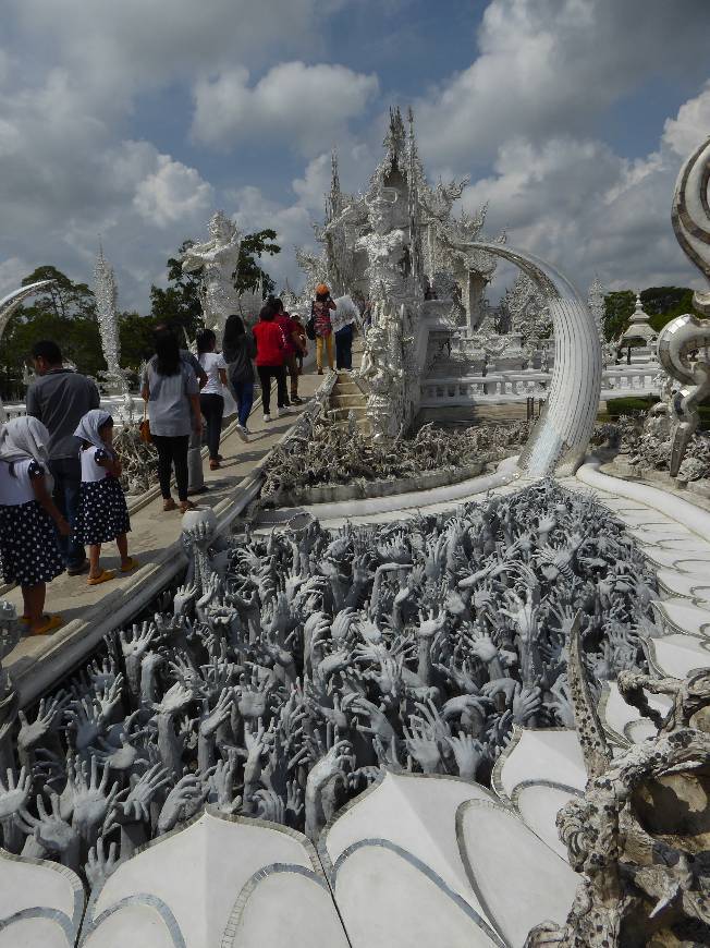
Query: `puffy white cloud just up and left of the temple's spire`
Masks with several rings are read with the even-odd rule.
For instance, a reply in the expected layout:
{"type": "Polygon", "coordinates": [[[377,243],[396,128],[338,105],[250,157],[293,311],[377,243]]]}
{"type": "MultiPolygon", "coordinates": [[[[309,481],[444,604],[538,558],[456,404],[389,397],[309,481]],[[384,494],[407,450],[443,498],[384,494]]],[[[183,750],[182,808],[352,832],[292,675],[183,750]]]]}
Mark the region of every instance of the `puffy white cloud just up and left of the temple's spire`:
{"type": "Polygon", "coordinates": [[[344,132],[377,94],[375,75],[342,65],[284,62],[249,86],[244,68],[197,82],[193,135],[207,145],[277,138],[306,154],[344,132]]]}

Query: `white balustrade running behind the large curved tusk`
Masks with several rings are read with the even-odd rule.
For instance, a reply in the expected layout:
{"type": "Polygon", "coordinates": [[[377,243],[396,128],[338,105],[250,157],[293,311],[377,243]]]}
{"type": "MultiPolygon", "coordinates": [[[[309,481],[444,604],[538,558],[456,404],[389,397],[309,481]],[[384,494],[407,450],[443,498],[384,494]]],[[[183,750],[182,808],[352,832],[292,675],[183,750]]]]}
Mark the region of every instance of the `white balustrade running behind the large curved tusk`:
{"type": "MultiPolygon", "coordinates": [[[[625,394],[658,394],[656,381],[659,366],[615,365],[604,369],[601,377],[601,398],[625,394]]],[[[547,398],[552,373],[528,369],[501,372],[490,375],[429,376],[421,382],[420,408],[442,405],[507,404],[529,398],[547,398]]]]}

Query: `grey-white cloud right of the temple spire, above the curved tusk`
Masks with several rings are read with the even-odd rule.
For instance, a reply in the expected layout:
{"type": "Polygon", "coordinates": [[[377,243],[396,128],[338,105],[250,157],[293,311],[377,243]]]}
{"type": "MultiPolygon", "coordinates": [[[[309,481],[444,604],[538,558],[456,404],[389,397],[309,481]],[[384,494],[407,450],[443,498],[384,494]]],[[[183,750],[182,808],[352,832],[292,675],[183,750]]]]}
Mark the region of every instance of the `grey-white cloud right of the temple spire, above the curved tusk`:
{"type": "MultiPolygon", "coordinates": [[[[678,116],[694,109],[690,100],[678,116]]],[[[512,245],[559,266],[582,291],[596,272],[610,289],[697,285],[670,220],[681,160],[665,136],[636,161],[593,139],[518,138],[501,146],[493,173],[463,199],[468,209],[488,200],[489,232],[504,227],[512,245]]]]}

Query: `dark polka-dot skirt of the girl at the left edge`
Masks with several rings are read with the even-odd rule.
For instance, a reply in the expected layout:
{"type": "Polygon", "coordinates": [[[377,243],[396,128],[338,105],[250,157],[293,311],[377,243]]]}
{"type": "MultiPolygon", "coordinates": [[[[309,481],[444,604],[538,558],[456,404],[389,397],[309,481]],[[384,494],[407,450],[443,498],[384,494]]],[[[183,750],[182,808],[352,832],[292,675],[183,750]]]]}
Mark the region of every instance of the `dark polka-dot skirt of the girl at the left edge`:
{"type": "Polygon", "coordinates": [[[64,572],[51,516],[36,500],[0,507],[0,561],[5,583],[37,586],[64,572]]]}

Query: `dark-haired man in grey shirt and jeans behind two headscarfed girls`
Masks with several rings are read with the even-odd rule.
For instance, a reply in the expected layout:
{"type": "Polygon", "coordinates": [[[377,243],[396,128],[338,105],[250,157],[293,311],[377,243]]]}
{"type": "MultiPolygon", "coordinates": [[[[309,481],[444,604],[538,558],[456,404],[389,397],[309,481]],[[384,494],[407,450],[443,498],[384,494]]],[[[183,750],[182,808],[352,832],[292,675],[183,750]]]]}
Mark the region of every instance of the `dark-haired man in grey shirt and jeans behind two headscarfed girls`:
{"type": "Polygon", "coordinates": [[[78,508],[82,464],[74,432],[82,417],[100,405],[96,385],[78,372],[63,367],[56,342],[45,340],[33,347],[32,361],[38,378],[27,389],[27,414],[49,432],[49,470],[54,478],[54,503],[72,527],[70,536],[58,534],[59,547],[70,575],[88,569],[86,551],[74,536],[78,508]]]}

